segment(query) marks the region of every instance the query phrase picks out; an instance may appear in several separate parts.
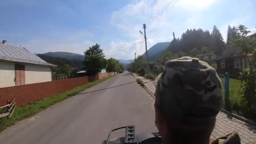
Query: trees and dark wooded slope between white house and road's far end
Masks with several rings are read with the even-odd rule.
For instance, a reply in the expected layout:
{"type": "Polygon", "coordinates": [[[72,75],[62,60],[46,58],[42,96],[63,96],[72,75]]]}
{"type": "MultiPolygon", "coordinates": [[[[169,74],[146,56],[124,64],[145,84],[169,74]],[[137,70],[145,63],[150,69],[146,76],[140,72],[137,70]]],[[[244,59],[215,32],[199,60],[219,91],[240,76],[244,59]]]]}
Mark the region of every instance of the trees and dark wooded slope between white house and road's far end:
{"type": "Polygon", "coordinates": [[[64,59],[53,56],[46,56],[37,54],[44,61],[57,65],[52,68],[53,74],[67,75],[68,77],[75,77],[76,72],[85,70],[85,75],[96,75],[101,72],[102,69],[106,69],[107,72],[123,72],[124,66],[117,59],[110,58],[105,59],[103,50],[99,44],[92,45],[84,52],[85,59],[64,59]]]}

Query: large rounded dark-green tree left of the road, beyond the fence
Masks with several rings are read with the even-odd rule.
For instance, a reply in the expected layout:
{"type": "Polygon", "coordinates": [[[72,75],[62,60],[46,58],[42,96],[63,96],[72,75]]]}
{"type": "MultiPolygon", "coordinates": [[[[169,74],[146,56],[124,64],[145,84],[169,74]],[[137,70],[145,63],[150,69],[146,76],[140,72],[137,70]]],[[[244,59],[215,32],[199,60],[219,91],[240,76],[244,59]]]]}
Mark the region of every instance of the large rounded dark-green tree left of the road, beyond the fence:
{"type": "Polygon", "coordinates": [[[107,60],[104,58],[105,55],[99,44],[96,43],[95,45],[89,47],[84,54],[84,65],[87,75],[96,75],[102,69],[106,68],[107,60]]]}

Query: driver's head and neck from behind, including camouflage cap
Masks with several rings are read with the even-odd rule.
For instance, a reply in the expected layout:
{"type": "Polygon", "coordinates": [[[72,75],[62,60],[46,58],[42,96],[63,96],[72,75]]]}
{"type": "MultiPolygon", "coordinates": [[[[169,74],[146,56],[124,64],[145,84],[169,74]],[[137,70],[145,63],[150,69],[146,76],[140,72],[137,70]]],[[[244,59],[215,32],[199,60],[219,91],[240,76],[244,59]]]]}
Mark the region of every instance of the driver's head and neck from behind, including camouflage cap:
{"type": "Polygon", "coordinates": [[[155,118],[163,143],[207,143],[222,104],[216,70],[197,58],[181,57],[165,63],[155,86],[155,118]]]}

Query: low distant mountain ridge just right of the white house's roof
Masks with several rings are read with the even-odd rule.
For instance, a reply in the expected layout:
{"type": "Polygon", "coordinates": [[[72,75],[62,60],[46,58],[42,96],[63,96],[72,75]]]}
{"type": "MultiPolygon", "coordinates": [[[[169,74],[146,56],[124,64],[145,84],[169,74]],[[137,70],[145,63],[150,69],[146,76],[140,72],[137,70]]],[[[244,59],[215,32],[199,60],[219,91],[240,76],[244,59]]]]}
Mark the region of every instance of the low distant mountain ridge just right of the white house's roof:
{"type": "Polygon", "coordinates": [[[71,60],[71,59],[83,60],[84,59],[84,56],[81,54],[62,52],[62,51],[42,53],[41,55],[59,57],[59,58],[64,58],[64,59],[69,59],[69,60],[71,60]]]}

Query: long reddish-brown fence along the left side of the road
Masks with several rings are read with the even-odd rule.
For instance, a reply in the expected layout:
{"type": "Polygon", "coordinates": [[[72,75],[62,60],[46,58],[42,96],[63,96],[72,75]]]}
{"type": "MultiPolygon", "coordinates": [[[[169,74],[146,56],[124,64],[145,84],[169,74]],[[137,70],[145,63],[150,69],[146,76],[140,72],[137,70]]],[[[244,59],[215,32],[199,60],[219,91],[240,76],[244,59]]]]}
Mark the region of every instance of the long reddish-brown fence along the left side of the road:
{"type": "MultiPolygon", "coordinates": [[[[112,72],[95,75],[94,80],[113,75],[112,72]]],[[[45,83],[0,88],[0,107],[8,104],[14,98],[18,107],[31,102],[39,101],[55,94],[62,93],[72,88],[88,83],[88,77],[77,77],[65,80],[55,80],[45,83]]]]}

